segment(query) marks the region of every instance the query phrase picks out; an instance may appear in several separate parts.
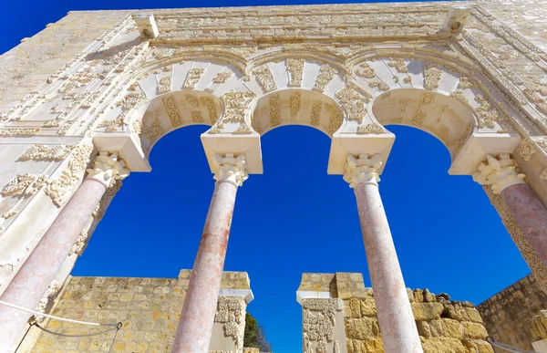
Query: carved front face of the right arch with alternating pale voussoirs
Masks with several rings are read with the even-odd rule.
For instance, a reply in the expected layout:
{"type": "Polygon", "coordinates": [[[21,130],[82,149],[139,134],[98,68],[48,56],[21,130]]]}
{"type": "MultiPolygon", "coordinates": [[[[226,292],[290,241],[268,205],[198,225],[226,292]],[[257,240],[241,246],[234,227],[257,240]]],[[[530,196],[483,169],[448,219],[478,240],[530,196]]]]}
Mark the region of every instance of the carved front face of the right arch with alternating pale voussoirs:
{"type": "MultiPolygon", "coordinates": [[[[348,60],[347,66],[351,68],[354,78],[358,78],[360,85],[366,86],[368,82],[365,83],[364,79],[371,81],[369,78],[374,78],[374,63],[378,62],[380,66],[382,62],[387,64],[389,73],[386,79],[372,79],[373,82],[380,81],[375,88],[387,90],[387,87],[413,87],[449,94],[477,111],[480,130],[490,129],[490,132],[508,132],[523,137],[538,131],[532,119],[521,109],[527,104],[524,96],[501,87],[469,57],[425,45],[411,49],[401,47],[397,51],[360,51],[348,60]],[[420,72],[421,78],[418,78],[420,72]],[[365,78],[367,75],[372,77],[365,78]],[[511,96],[515,96],[516,100],[511,96]],[[495,121],[494,124],[492,121],[495,121]],[[497,126],[492,128],[494,125],[497,126]]],[[[373,96],[376,98],[381,93],[375,90],[373,96]]]]}

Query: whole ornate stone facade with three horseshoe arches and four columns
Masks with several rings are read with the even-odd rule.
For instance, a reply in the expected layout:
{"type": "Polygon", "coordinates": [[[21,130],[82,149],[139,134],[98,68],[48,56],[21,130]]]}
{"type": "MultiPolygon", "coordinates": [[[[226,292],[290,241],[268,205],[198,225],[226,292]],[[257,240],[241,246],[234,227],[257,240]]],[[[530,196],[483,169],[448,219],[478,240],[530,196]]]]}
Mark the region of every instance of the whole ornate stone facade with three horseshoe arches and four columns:
{"type": "MultiPolygon", "coordinates": [[[[422,351],[378,192],[387,124],[444,143],[449,172],[484,185],[547,289],[547,45],[539,22],[522,36],[525,13],[475,2],[69,14],[1,58],[28,80],[1,81],[0,300],[33,308],[63,283],[121,181],[191,124],[212,126],[201,140],[217,182],[173,352],[208,348],[236,192],[263,172],[261,136],[282,125],[332,139],[327,172],[355,189],[387,352],[422,351]]],[[[27,318],[0,306],[0,352],[27,318]]]]}

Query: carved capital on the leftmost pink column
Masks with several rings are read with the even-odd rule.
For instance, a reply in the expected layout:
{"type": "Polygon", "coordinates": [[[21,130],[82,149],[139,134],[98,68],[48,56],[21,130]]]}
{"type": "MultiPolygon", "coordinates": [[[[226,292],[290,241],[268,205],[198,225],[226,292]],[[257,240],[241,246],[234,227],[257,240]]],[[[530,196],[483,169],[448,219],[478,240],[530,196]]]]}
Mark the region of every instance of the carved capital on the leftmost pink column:
{"type": "Polygon", "coordinates": [[[125,161],[119,158],[118,152],[100,151],[93,161],[92,168],[88,169],[87,178],[102,182],[109,188],[115,181],[123,180],[128,175],[129,170],[125,161]]]}

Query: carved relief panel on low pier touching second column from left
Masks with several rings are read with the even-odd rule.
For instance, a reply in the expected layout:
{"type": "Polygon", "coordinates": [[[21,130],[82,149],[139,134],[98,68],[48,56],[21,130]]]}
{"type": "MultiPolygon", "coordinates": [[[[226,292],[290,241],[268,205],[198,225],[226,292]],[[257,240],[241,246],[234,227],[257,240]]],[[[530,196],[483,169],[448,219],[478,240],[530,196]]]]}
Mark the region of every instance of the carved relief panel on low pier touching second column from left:
{"type": "Polygon", "coordinates": [[[243,296],[219,296],[214,322],[222,324],[225,337],[232,337],[237,352],[243,351],[245,302],[243,296]]]}

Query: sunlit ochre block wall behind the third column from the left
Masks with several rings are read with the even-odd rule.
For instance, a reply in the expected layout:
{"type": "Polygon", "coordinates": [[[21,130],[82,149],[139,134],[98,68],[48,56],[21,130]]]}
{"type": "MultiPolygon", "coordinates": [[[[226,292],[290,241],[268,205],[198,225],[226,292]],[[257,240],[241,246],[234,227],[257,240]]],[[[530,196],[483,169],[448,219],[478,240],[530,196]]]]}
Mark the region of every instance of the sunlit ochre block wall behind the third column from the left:
{"type": "MultiPolygon", "coordinates": [[[[301,301],[311,296],[342,301],[348,353],[384,352],[374,295],[361,274],[304,274],[298,296],[301,301]]],[[[428,289],[408,289],[408,296],[425,353],[493,352],[480,313],[469,302],[450,301],[449,295],[436,296],[428,289]]]]}

